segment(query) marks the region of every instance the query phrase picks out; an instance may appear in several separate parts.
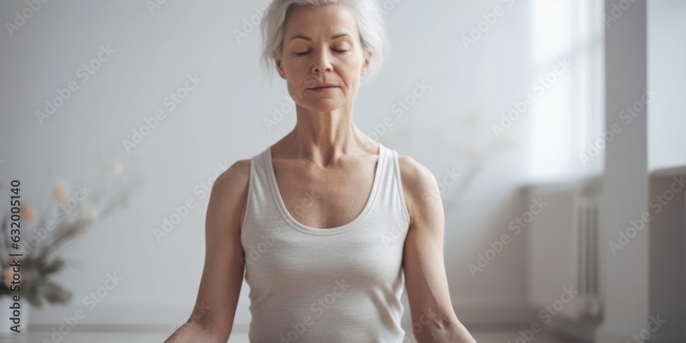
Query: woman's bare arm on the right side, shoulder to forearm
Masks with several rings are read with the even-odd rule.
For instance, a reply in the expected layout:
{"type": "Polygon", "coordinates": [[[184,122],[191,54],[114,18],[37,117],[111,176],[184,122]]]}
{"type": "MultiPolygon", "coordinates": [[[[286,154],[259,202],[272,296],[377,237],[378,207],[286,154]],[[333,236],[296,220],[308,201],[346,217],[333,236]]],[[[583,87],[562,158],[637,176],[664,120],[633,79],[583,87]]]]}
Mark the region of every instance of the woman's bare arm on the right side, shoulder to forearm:
{"type": "Polygon", "coordinates": [[[476,343],[458,320],[443,263],[444,213],[438,183],[429,169],[399,157],[403,194],[410,212],[403,267],[414,335],[419,343],[476,343]]]}

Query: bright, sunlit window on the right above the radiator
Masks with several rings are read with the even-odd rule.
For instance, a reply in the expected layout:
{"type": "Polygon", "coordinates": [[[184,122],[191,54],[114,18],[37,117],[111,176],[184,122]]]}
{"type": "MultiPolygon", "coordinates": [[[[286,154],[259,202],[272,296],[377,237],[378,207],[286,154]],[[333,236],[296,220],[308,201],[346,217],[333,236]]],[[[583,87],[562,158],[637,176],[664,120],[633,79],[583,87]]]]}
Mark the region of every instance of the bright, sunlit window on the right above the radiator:
{"type": "Polygon", "coordinates": [[[604,145],[590,146],[605,126],[604,3],[536,0],[532,12],[534,73],[545,82],[534,93],[541,94],[529,121],[528,174],[535,180],[600,174],[604,145]],[[560,73],[556,64],[565,60],[569,69],[560,73]]]}

